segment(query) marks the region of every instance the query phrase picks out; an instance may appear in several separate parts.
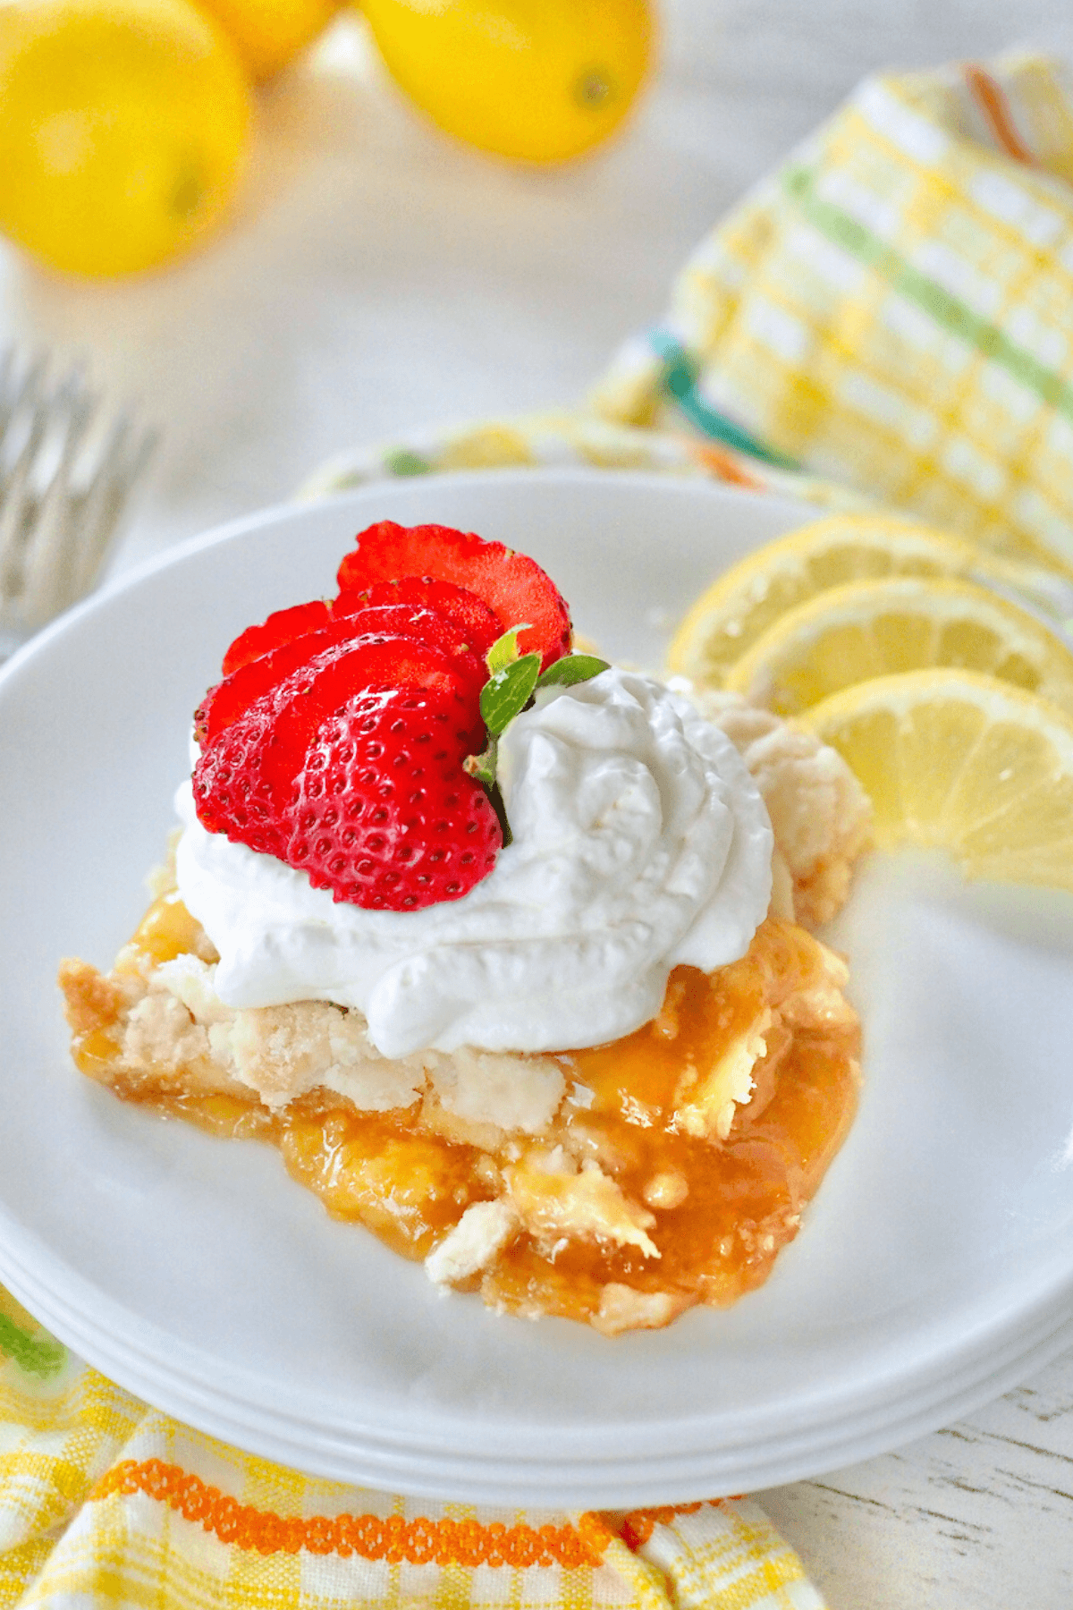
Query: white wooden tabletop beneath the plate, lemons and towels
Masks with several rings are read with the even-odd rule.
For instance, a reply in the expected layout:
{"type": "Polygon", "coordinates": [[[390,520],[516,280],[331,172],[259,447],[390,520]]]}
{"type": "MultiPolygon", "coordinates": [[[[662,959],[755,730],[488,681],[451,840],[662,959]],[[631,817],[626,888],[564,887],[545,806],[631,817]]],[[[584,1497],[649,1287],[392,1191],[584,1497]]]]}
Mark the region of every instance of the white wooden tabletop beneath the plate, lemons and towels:
{"type": "MultiPolygon", "coordinates": [[[[518,172],[439,140],[346,24],[262,103],[232,230],[117,285],[0,246],[10,335],[90,359],[164,427],[116,559],[285,499],[417,423],[557,407],[658,316],[684,254],[861,72],[1047,39],[1001,0],[668,0],[664,74],[595,161],[518,172]]],[[[1068,23],[1065,40],[1068,43],[1068,23]]],[[[764,1494],[832,1610],[1073,1605],[1073,1354],[898,1452],[764,1494]]]]}

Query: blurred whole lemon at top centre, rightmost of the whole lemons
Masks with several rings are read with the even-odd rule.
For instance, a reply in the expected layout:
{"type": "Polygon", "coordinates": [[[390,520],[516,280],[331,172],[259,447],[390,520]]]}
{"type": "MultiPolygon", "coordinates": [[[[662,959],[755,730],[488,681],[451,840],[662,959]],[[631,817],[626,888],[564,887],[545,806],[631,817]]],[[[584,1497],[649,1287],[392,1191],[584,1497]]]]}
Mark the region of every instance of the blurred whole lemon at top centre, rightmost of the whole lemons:
{"type": "Polygon", "coordinates": [[[555,163],[606,138],[648,69],[647,0],[362,0],[389,72],[447,134],[555,163]]]}

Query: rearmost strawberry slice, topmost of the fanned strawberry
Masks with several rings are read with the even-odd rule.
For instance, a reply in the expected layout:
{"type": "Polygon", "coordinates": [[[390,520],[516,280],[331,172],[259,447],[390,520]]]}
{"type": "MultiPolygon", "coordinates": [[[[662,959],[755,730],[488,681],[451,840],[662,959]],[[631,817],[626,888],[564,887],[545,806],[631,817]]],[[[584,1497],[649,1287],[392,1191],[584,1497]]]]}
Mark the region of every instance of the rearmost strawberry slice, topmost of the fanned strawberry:
{"type": "Polygon", "coordinates": [[[534,559],[502,543],[446,525],[380,520],[359,533],[339,565],[338,583],[341,592],[360,592],[401,576],[436,576],[476,592],[504,631],[528,621],[518,646],[521,654],[539,652],[542,670],[569,649],[569,610],[555,583],[534,559]]]}

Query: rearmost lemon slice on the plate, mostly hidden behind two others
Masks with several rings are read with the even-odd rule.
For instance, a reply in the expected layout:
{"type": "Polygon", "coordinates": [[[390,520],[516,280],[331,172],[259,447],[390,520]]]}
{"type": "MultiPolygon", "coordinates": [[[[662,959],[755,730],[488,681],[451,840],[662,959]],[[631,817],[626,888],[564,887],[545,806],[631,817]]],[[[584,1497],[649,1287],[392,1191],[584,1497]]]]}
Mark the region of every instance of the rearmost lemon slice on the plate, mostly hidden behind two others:
{"type": "MultiPolygon", "coordinates": [[[[787,610],[828,588],[880,576],[970,576],[1022,589],[1046,607],[1068,592],[1059,575],[914,520],[833,515],[769,543],[719,576],[679,626],[668,665],[700,687],[719,687],[727,668],[787,610]]],[[[1057,607],[1073,612],[1068,599],[1057,607]]]]}

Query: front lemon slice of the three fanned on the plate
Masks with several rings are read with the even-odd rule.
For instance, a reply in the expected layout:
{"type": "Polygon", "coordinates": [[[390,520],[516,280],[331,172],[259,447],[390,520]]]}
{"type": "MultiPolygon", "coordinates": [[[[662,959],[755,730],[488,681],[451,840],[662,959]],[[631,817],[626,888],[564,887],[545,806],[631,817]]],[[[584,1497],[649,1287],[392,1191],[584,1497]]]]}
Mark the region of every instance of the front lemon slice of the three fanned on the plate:
{"type": "Polygon", "coordinates": [[[1073,720],[1049,700],[941,668],[845,687],[803,721],[856,771],[880,848],[1073,890],[1073,720]]]}

